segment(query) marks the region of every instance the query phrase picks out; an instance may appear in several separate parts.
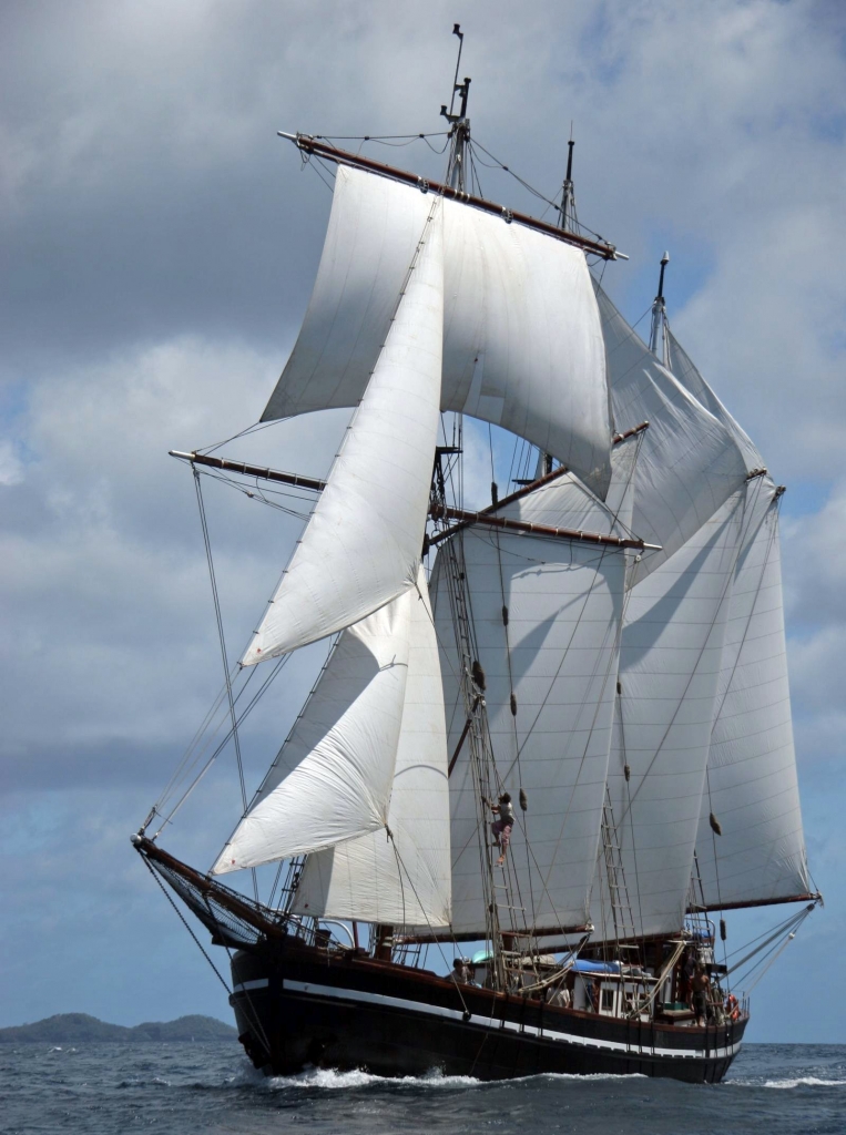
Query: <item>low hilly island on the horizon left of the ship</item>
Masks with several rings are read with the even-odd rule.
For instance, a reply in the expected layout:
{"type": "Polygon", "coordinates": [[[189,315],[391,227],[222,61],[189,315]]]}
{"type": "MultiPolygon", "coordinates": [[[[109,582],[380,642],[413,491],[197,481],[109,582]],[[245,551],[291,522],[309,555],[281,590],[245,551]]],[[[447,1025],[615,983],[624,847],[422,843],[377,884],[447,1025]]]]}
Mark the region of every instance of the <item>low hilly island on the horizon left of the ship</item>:
{"type": "Polygon", "coordinates": [[[33,1025],[0,1028],[0,1044],[39,1042],[41,1044],[77,1044],[85,1041],[234,1041],[237,1031],[215,1017],[179,1017],[177,1020],[152,1020],[126,1028],[109,1025],[86,1012],[60,1012],[36,1020],[33,1025]]]}

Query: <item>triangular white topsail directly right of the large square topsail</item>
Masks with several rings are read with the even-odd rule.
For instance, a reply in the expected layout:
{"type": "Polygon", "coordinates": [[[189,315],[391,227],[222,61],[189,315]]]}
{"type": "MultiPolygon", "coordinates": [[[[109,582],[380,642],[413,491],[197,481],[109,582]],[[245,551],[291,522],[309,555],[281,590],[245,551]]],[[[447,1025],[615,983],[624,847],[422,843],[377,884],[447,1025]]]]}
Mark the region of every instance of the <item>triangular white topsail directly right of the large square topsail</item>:
{"type": "Polygon", "coordinates": [[[732,431],[693,397],[643,344],[604,292],[596,295],[605,337],[614,427],[648,421],[637,462],[633,528],[663,552],[644,556],[644,579],[705,524],[746,479],[732,431]]]}

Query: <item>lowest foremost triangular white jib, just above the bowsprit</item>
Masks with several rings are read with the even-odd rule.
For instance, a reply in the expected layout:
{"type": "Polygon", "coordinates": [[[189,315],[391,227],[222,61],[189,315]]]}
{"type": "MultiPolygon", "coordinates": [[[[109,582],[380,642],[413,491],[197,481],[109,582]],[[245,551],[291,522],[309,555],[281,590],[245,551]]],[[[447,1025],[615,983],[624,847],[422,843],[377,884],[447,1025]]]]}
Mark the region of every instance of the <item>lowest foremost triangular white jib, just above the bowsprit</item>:
{"type": "Polygon", "coordinates": [[[404,592],[343,632],[212,874],[333,847],[385,826],[405,698],[411,599],[404,592]]]}

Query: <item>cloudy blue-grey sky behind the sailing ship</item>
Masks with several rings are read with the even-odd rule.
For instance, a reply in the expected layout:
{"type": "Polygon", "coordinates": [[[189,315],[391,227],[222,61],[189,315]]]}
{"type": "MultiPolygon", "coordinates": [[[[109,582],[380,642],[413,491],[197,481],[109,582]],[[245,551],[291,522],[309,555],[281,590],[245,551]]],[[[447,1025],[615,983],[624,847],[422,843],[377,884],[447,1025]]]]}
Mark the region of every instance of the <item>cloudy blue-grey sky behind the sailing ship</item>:
{"type": "MultiPolygon", "coordinates": [[[[167,453],[258,421],[305,310],[330,192],[276,132],[441,132],[456,20],[474,137],[548,197],[572,124],[579,219],[630,257],[603,285],[635,322],[669,249],[673,330],[788,487],[796,747],[826,908],[759,985],[747,1036],[846,1042],[831,965],[846,935],[837,0],[0,6],[0,1026],[229,1017],[128,840],[220,684],[194,488],[167,453]]],[[[362,152],[432,177],[445,160],[419,141],[362,152]]],[[[481,174],[487,196],[545,208],[481,174]]],[[[309,415],[229,449],[320,476],[344,421],[309,415]]],[[[217,484],[206,503],[234,656],[302,520],[217,484]]],[[[245,729],[251,784],[323,655],[307,648],[245,729]]],[[[165,846],[207,866],[237,812],[226,760],[165,846]]]]}

